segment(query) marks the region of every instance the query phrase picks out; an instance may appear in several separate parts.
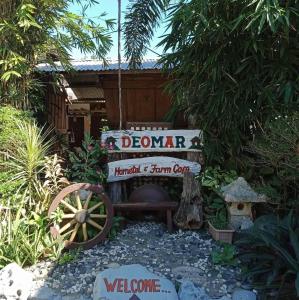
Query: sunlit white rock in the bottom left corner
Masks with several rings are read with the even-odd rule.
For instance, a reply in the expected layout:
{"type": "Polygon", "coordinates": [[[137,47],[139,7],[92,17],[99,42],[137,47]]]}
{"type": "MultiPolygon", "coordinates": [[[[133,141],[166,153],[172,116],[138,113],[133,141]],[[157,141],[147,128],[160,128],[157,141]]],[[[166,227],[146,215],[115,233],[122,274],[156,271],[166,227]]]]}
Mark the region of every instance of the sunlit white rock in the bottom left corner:
{"type": "Polygon", "coordinates": [[[16,263],[0,271],[0,299],[27,300],[33,282],[31,272],[23,270],[16,263]]]}

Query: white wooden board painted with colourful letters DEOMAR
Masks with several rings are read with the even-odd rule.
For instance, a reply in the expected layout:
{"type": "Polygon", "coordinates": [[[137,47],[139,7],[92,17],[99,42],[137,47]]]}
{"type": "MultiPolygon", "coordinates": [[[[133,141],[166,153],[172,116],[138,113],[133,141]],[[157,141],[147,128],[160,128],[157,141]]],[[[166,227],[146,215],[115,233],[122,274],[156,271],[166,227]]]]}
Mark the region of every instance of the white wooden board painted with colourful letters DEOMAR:
{"type": "Polygon", "coordinates": [[[102,146],[111,152],[201,151],[201,130],[118,130],[102,133],[102,146]]]}

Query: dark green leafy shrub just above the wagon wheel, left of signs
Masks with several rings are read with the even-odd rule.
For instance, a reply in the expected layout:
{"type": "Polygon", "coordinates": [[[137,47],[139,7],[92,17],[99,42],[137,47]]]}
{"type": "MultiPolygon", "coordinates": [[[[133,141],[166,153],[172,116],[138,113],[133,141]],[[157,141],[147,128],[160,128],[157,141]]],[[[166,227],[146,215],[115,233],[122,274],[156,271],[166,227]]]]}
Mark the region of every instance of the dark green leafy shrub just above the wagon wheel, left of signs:
{"type": "Polygon", "coordinates": [[[85,134],[79,151],[69,153],[69,175],[73,181],[103,183],[103,172],[107,159],[107,149],[101,148],[90,135],[85,134]]]}

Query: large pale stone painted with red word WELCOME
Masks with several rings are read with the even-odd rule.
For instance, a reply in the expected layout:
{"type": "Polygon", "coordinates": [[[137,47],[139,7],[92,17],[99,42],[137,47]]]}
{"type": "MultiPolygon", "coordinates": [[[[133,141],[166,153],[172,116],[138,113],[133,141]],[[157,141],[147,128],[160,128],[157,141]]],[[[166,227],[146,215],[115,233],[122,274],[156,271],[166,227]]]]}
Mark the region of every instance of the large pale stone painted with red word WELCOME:
{"type": "Polygon", "coordinates": [[[178,300],[174,285],[141,265],[126,265],[99,273],[93,300],[178,300]]]}

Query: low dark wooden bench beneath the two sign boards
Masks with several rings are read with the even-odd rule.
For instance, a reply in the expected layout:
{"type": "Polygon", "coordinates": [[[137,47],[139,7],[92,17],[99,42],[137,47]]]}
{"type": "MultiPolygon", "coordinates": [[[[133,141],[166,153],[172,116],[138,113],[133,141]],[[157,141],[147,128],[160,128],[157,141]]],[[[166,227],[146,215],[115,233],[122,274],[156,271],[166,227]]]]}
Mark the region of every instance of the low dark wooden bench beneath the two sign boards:
{"type": "Polygon", "coordinates": [[[117,203],[113,204],[113,208],[116,212],[122,213],[124,211],[165,211],[167,220],[167,229],[172,232],[172,213],[178,207],[176,202],[159,202],[159,203],[149,203],[149,202],[135,202],[135,203],[117,203]]]}

